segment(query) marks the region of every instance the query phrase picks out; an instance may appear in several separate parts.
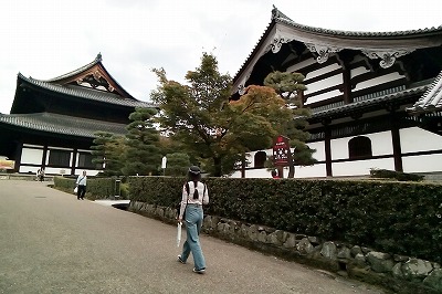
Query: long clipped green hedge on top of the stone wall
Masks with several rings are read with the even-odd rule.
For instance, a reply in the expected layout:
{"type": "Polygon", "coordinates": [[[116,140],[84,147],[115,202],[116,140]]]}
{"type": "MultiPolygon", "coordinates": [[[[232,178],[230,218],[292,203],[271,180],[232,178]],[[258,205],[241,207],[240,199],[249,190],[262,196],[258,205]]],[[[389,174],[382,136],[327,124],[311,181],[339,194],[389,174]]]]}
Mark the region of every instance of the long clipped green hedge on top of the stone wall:
{"type": "MultiPolygon", "coordinates": [[[[185,178],[130,177],[130,200],[175,207],[185,178]]],[[[204,179],[206,213],[442,262],[442,187],[420,182],[204,179]]]]}

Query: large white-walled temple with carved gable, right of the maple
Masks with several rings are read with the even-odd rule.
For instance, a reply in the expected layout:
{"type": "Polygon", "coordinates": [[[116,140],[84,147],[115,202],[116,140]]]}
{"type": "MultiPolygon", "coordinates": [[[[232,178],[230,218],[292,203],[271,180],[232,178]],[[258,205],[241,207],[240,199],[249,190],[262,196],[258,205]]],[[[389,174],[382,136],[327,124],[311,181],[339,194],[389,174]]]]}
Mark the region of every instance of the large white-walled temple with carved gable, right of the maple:
{"type": "MultiPolygon", "coordinates": [[[[299,95],[312,109],[307,144],[318,162],[296,166],[295,178],[367,176],[371,169],[442,174],[442,27],[336,31],[296,23],[274,8],[234,76],[234,97],[263,85],[273,71],[305,76],[299,95]]],[[[271,155],[251,153],[242,176],[271,177],[264,168],[271,155]]]]}

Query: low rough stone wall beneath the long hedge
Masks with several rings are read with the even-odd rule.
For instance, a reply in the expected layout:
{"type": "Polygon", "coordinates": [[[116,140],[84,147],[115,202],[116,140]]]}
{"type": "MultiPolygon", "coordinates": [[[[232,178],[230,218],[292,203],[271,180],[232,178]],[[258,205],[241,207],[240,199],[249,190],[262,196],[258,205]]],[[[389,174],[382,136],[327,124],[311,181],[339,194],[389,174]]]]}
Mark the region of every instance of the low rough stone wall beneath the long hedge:
{"type": "MultiPolygon", "coordinates": [[[[168,223],[176,222],[176,210],[171,208],[130,201],[128,210],[168,223]]],[[[211,216],[204,217],[202,231],[286,260],[382,285],[397,293],[442,293],[442,267],[435,262],[211,216]]]]}

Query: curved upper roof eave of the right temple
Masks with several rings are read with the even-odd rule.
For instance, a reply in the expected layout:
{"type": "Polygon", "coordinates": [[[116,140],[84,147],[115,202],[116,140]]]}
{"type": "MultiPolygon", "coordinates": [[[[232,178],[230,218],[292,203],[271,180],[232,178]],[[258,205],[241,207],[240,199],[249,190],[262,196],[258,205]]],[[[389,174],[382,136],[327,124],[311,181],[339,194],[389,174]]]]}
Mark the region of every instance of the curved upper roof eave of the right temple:
{"type": "Polygon", "coordinates": [[[282,43],[297,41],[315,46],[358,50],[366,51],[367,53],[389,51],[391,49],[413,51],[442,45],[442,25],[430,29],[392,32],[339,31],[296,23],[276,9],[272,13],[272,21],[233,77],[234,92],[240,90],[249,78],[252,69],[260,57],[281,40],[283,40],[282,43]]]}

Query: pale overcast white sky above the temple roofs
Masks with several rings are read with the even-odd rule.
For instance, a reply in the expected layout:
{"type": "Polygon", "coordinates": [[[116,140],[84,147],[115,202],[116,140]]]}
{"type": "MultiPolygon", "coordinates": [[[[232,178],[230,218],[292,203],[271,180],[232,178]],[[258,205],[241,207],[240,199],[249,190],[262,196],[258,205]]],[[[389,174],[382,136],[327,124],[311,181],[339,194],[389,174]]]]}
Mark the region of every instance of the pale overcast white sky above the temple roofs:
{"type": "Polygon", "coordinates": [[[0,2],[0,113],[9,114],[17,75],[50,80],[102,54],[129,94],[149,102],[151,69],[185,83],[212,53],[232,77],[271,22],[341,31],[403,31],[442,25],[440,0],[6,0],[0,2]]]}

